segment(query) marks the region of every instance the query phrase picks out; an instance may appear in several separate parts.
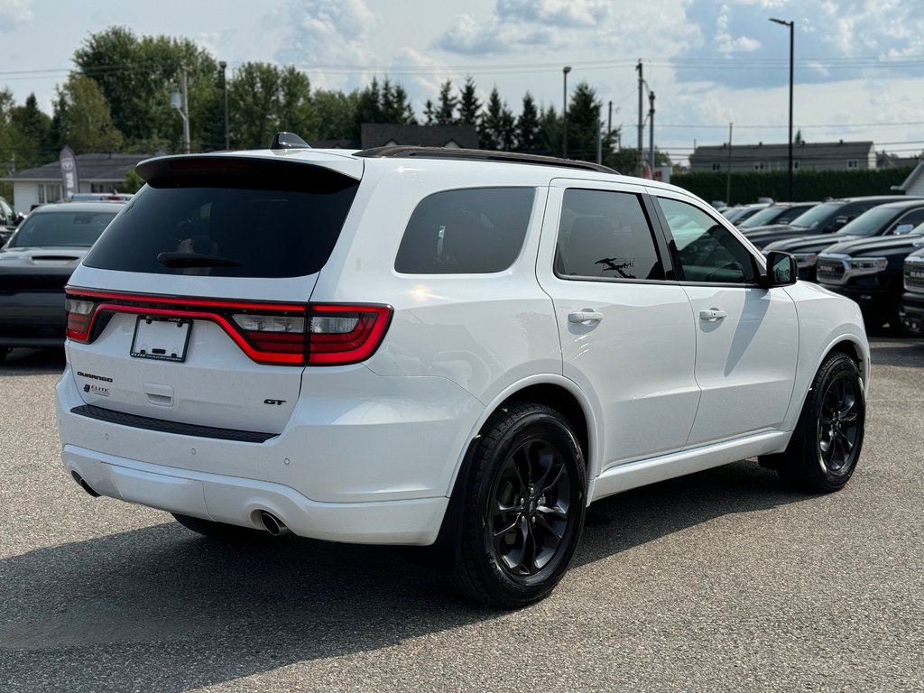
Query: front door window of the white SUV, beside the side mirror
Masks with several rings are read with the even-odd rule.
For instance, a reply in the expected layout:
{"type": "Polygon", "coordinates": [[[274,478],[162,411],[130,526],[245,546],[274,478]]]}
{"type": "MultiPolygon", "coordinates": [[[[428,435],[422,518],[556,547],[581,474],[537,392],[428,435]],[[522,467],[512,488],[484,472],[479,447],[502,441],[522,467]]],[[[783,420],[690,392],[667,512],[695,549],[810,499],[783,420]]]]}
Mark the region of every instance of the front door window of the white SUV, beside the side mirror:
{"type": "Polygon", "coordinates": [[[741,284],[757,278],[747,248],[723,225],[687,202],[659,198],[683,270],[691,282],[741,284]]]}

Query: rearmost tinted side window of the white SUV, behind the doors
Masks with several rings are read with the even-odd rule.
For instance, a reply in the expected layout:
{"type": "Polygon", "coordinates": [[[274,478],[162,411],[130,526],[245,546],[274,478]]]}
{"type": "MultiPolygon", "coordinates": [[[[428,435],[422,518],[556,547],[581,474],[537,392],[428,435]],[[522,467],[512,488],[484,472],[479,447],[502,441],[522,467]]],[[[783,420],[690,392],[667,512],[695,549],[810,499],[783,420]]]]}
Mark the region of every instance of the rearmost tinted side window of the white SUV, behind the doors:
{"type": "Polygon", "coordinates": [[[533,188],[445,190],[420,201],[395,258],[402,274],[488,274],[517,259],[533,188]]]}

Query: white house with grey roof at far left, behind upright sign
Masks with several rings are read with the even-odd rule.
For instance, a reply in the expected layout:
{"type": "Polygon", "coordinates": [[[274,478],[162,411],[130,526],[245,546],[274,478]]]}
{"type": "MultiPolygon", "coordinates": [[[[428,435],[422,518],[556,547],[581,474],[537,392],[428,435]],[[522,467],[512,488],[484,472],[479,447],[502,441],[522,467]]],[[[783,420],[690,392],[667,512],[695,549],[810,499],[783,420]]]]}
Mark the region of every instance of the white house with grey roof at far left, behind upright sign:
{"type": "MultiPolygon", "coordinates": [[[[152,154],[78,154],[78,192],[112,192],[123,184],[125,176],[139,162],[152,154]]],[[[61,164],[36,166],[18,171],[0,181],[13,184],[13,206],[26,213],[36,205],[61,199],[61,164]]]]}

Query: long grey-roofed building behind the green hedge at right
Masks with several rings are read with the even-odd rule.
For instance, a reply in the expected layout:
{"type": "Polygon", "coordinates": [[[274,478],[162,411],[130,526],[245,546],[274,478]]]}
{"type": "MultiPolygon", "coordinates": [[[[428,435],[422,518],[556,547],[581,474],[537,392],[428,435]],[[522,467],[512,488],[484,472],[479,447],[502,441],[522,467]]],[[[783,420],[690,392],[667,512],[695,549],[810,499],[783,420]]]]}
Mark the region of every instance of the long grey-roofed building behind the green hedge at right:
{"type": "MultiPolygon", "coordinates": [[[[697,147],[690,155],[691,171],[788,171],[789,144],[728,144],[697,147]]],[[[793,170],[833,171],[876,168],[871,141],[795,142],[793,170]]]]}

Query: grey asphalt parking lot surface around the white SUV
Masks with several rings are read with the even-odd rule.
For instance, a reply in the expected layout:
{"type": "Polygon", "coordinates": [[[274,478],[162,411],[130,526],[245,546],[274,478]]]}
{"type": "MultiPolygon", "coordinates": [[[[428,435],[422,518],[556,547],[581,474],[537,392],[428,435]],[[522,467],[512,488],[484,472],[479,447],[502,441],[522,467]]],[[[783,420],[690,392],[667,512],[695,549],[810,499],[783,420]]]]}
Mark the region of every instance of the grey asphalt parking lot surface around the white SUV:
{"type": "MultiPolygon", "coordinates": [[[[60,352],[0,363],[0,691],[924,690],[924,341],[872,338],[857,473],[739,462],[591,506],[514,613],[399,548],[201,539],[60,466],[60,352]]],[[[384,462],[384,461],[383,461],[384,462]]]]}

